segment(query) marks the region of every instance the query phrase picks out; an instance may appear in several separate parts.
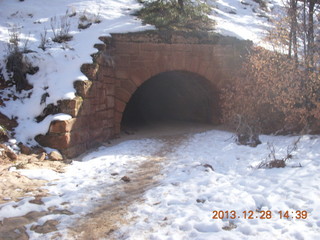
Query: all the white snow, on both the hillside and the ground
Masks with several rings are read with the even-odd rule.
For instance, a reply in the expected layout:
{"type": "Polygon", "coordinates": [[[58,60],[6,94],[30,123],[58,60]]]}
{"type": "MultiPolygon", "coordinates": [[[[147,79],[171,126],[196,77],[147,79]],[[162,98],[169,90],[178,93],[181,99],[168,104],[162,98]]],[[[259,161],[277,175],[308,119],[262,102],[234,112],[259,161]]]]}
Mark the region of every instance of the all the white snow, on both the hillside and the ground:
{"type": "MultiPolygon", "coordinates": [[[[217,0],[211,4],[217,6],[213,17],[217,20],[218,31],[260,42],[267,18],[261,17],[264,13],[258,9],[257,3],[217,0]]],[[[142,26],[130,15],[139,8],[135,0],[0,0],[0,6],[1,67],[5,66],[8,54],[10,29],[17,28],[21,44],[28,39],[27,46],[34,51],[27,54],[28,58],[40,68],[38,73],[28,76],[33,89],[23,91],[15,101],[6,101],[6,106],[0,109],[9,117],[18,117],[15,137],[31,144],[36,134],[46,133],[54,117],[70,117],[49,116],[40,123],[34,119],[46,105],[74,97],[72,83],[85,79],[80,66],[91,62],[90,54],[96,51],[93,45],[99,42],[99,36],[152,28],[142,26]],[[68,14],[76,13],[68,18],[73,39],[65,44],[54,43],[51,41],[50,18],[59,19],[67,10],[68,14]],[[101,23],[79,30],[77,25],[82,15],[98,17],[101,23]],[[45,51],[38,48],[44,29],[48,32],[45,51]],[[31,97],[26,97],[30,92],[31,97]],[[40,104],[45,93],[49,97],[40,104]]],[[[274,6],[277,1],[268,5],[269,8],[274,6]]],[[[10,91],[1,94],[6,96],[10,91]]],[[[258,169],[256,166],[270,153],[267,142],[273,142],[278,157],[282,157],[296,137],[262,136],[263,144],[257,148],[238,146],[231,137],[231,133],[216,130],[186,136],[180,145],[165,155],[163,180],[145,193],[143,203],[130,207],[127,218],[131,219],[131,225],[119,226],[114,233],[116,238],[319,239],[319,136],[303,136],[289,166],[281,169],[258,169]],[[223,211],[224,217],[212,219],[213,211],[223,211]],[[229,211],[229,217],[226,211],[229,211]],[[266,211],[272,216],[261,219],[266,211]],[[279,211],[283,214],[288,211],[288,218],[286,215],[281,219],[279,211]],[[300,213],[306,212],[305,219],[298,219],[300,213]],[[248,219],[251,214],[253,219],[248,219]]],[[[33,197],[2,204],[0,221],[30,211],[47,211],[55,206],[73,215],[49,214],[40,218],[37,224],[58,220],[60,239],[68,239],[70,224],[90,213],[101,201],[108,201],[114,185],[120,184],[120,178],[149,161],[150,156],[156,155],[165,144],[161,139],[143,139],[103,147],[82,161],[74,161],[65,173],[19,170],[26,176],[49,180],[45,188],[51,196],[42,199],[43,205],[30,203],[33,197]]],[[[30,230],[34,224],[26,226],[31,239],[50,239],[55,234],[37,234],[30,230]]]]}

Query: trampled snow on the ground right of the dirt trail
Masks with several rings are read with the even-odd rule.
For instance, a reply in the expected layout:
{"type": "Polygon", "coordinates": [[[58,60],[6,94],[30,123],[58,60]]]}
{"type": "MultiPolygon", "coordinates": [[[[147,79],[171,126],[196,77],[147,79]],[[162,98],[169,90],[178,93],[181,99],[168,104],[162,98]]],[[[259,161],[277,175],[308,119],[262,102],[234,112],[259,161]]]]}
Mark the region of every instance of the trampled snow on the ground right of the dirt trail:
{"type": "Polygon", "coordinates": [[[257,148],[238,146],[230,137],[220,131],[196,134],[167,156],[164,180],[129,209],[135,223],[122,227],[119,239],[318,239],[319,137],[304,136],[281,169],[256,166],[268,155],[267,142],[281,157],[296,137],[263,136],[257,148]],[[212,211],[232,210],[239,218],[212,219],[212,211]],[[243,211],[261,216],[256,210],[269,210],[272,218],[244,219],[243,211]],[[279,211],[307,211],[308,217],[280,219],[279,211]],[[222,229],[230,223],[236,228],[222,229]]]}

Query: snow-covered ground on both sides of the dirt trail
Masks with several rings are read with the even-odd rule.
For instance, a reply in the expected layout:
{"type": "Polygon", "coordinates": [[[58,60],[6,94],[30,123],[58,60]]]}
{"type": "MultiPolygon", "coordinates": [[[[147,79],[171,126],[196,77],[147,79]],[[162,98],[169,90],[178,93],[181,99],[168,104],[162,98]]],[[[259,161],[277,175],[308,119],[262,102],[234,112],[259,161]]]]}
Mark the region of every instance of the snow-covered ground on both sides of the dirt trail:
{"type": "MultiPolygon", "coordinates": [[[[129,208],[126,218],[131,224],[120,226],[114,236],[136,240],[318,239],[320,137],[303,136],[286,168],[257,168],[270,153],[268,142],[274,144],[281,158],[296,139],[262,136],[263,143],[251,148],[235,144],[232,134],[224,131],[185,136],[165,154],[163,179],[145,193],[143,203],[129,208]],[[212,219],[213,211],[225,214],[222,219],[212,219]],[[263,219],[263,211],[270,211],[270,219],[263,219]],[[287,211],[288,218],[284,216],[287,211]],[[305,219],[299,219],[305,212],[307,215],[301,215],[305,219]],[[253,219],[248,219],[250,214],[253,219]]],[[[108,201],[115,185],[126,184],[120,178],[136,171],[138,164],[150,161],[150,156],[156,156],[165,144],[162,139],[142,139],[103,147],[83,161],[73,162],[61,174],[19,170],[32,178],[50,180],[46,188],[51,196],[42,199],[43,205],[31,204],[33,197],[6,203],[1,206],[0,220],[56,206],[74,215],[49,214],[37,224],[58,220],[58,230],[65,234],[59,239],[68,239],[69,224],[83,218],[98,203],[108,201]]],[[[31,239],[50,239],[56,233],[37,234],[30,230],[34,224],[26,226],[31,239]]]]}

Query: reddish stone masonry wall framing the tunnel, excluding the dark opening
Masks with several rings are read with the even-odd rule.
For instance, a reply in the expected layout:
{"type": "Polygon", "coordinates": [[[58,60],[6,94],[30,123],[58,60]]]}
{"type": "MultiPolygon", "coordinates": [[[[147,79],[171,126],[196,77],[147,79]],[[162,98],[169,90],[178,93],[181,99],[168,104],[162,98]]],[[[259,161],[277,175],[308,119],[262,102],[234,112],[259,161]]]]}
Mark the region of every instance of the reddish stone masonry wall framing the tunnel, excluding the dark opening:
{"type": "Polygon", "coordinates": [[[61,101],[72,116],[54,121],[44,146],[75,157],[120,133],[122,114],[135,90],[150,77],[167,71],[188,71],[208,79],[217,89],[230,83],[250,43],[221,35],[141,32],[101,37],[93,64],[81,70],[89,81],[75,81],[77,97],[61,101]]]}

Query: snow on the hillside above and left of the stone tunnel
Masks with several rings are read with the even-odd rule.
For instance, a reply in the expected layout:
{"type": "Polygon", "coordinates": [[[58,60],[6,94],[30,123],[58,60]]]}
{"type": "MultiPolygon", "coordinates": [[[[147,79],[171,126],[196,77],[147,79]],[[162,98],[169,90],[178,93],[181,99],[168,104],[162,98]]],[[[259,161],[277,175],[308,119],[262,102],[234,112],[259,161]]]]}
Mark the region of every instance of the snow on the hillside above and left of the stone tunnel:
{"type": "MultiPolygon", "coordinates": [[[[215,7],[212,18],[217,21],[218,32],[259,42],[267,18],[259,17],[265,12],[256,2],[217,0],[209,3],[215,7]]],[[[140,7],[135,0],[0,0],[0,6],[0,68],[3,68],[4,75],[5,59],[9,54],[8,43],[14,29],[19,33],[21,47],[27,42],[28,50],[33,51],[26,57],[33,66],[40,69],[35,75],[28,76],[33,85],[32,90],[23,91],[21,94],[14,93],[14,90],[0,92],[3,98],[12,93],[19,97],[6,101],[5,107],[1,107],[0,111],[10,118],[17,117],[19,126],[16,128],[15,138],[29,144],[35,144],[34,136],[47,132],[53,119],[70,118],[59,114],[48,116],[40,123],[35,121],[35,117],[39,116],[48,104],[74,97],[73,82],[86,79],[80,72],[80,66],[92,61],[90,54],[96,51],[93,45],[99,42],[99,36],[111,32],[152,28],[142,26],[139,20],[130,15],[140,7]],[[60,18],[66,15],[72,16],[67,19],[73,39],[62,44],[55,43],[51,40],[51,18],[56,18],[59,24],[60,18]],[[98,18],[101,23],[79,30],[77,26],[82,16],[98,18]],[[46,50],[43,51],[38,47],[45,31],[47,43],[46,50]],[[44,102],[41,101],[43,96],[47,96],[44,102]]]]}

